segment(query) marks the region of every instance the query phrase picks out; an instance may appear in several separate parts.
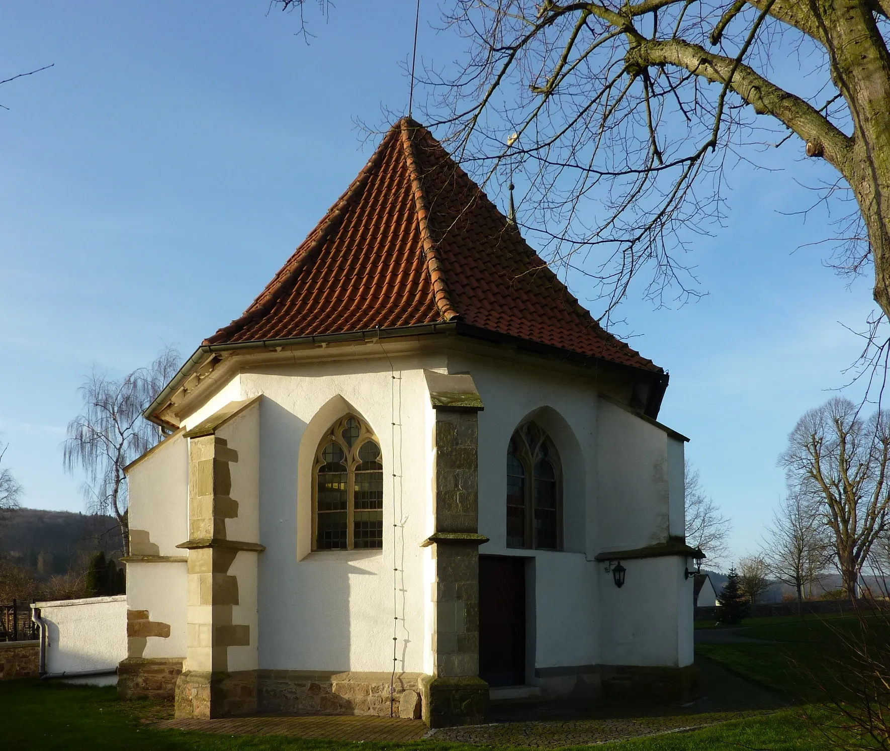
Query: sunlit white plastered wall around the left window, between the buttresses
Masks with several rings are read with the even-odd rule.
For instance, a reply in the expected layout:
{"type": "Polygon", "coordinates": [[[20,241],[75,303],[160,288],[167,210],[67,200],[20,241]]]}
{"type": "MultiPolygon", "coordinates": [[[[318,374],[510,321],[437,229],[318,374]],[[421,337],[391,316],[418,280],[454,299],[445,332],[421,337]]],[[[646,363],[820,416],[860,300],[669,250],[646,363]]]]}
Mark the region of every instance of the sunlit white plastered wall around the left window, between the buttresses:
{"type": "Polygon", "coordinates": [[[379,345],[366,346],[368,359],[269,367],[240,376],[241,399],[264,397],[261,668],[389,671],[393,635],[397,669],[425,667],[431,580],[422,562],[429,553],[420,543],[432,523],[425,469],[432,441],[423,369],[436,363],[387,359],[379,345]],[[346,412],[368,424],[383,451],[384,548],[312,553],[312,461],[325,432],[346,412]]]}

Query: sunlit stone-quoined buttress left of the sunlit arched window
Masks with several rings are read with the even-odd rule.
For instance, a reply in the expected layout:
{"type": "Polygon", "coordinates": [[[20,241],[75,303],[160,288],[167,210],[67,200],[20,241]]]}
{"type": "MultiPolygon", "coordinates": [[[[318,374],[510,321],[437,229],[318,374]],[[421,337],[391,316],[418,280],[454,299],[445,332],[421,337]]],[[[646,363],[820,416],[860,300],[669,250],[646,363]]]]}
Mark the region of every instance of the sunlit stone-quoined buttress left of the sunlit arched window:
{"type": "Polygon", "coordinates": [[[177,717],[245,715],[257,704],[255,624],[239,622],[257,612],[257,540],[231,539],[227,521],[258,536],[258,504],[231,496],[232,474],[242,453],[258,452],[259,400],[233,402],[186,432],[189,439],[188,633],[185,663],[176,682],[177,717]],[[252,407],[252,409],[251,409],[252,407]],[[238,650],[237,658],[233,648],[238,650]]]}

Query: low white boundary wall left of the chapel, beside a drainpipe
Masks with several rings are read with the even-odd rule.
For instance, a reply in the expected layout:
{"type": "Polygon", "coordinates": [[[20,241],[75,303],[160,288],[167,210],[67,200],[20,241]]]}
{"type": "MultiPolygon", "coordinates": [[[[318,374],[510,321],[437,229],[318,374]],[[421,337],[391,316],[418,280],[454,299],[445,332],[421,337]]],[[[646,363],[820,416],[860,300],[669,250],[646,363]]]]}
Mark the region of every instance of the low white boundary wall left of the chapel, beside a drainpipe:
{"type": "Polygon", "coordinates": [[[117,670],[126,657],[126,595],[35,602],[46,623],[46,672],[117,670]]]}

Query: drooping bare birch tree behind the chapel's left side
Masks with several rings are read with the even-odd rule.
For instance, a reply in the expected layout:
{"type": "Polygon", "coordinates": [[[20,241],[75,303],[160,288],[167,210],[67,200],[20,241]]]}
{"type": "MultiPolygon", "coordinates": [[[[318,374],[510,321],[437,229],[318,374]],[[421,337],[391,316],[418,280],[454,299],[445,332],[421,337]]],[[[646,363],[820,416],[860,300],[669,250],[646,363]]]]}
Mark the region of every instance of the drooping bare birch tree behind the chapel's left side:
{"type": "Polygon", "coordinates": [[[68,424],[64,442],[65,469],[86,473],[85,497],[95,513],[110,513],[120,525],[124,553],[129,553],[127,488],[124,468],[154,446],[157,426],[142,412],[174,376],[179,352],[166,348],[150,367],[140,367],[117,381],[93,369],[80,387],[84,411],[68,424]]]}

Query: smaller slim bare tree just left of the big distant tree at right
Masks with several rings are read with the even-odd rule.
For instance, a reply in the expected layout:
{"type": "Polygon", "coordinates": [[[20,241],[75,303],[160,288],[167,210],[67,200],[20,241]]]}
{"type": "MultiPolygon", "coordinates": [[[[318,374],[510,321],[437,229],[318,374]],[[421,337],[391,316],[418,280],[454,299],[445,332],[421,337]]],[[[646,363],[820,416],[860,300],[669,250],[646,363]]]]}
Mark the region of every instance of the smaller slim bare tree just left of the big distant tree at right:
{"type": "Polygon", "coordinates": [[[797,612],[805,594],[829,563],[830,541],[819,505],[812,497],[789,493],[773,512],[761,553],[769,573],[797,593],[797,612]]]}

